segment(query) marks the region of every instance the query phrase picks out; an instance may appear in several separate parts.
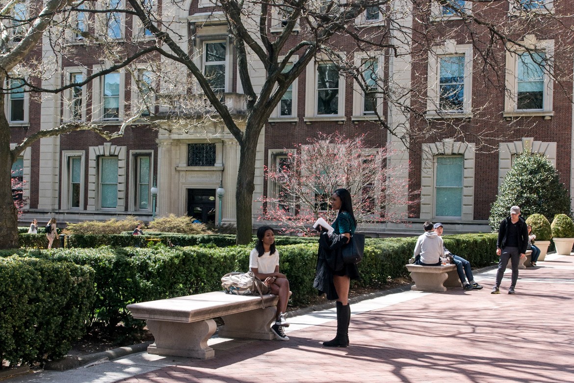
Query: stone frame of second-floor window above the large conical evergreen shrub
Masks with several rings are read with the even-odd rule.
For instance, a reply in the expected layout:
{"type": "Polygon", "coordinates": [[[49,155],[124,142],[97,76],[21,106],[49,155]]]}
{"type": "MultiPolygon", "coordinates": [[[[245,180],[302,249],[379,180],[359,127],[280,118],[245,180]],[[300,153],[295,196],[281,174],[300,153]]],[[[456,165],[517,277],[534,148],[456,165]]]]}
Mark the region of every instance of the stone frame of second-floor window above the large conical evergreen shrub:
{"type": "Polygon", "coordinates": [[[552,118],[554,82],[552,80],[554,60],[554,40],[537,40],[534,35],[526,35],[521,45],[510,44],[506,49],[506,92],[505,110],[503,117],[534,117],[552,118]],[[518,61],[522,53],[545,53],[546,68],[544,71],[544,86],[542,92],[542,109],[518,109],[518,61]]]}

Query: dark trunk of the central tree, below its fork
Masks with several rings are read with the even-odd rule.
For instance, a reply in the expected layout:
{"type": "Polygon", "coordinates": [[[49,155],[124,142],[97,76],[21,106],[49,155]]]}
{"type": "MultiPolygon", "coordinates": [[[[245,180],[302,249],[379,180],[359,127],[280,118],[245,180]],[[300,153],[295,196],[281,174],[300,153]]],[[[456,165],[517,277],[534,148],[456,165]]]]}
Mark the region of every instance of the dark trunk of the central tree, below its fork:
{"type": "Polygon", "coordinates": [[[239,156],[239,172],[237,175],[237,192],[235,194],[237,212],[237,239],[238,245],[247,245],[251,242],[253,192],[255,191],[255,155],[257,154],[257,140],[261,129],[247,126],[245,137],[241,145],[239,156]],[[255,134],[257,132],[257,134],[255,134]]]}

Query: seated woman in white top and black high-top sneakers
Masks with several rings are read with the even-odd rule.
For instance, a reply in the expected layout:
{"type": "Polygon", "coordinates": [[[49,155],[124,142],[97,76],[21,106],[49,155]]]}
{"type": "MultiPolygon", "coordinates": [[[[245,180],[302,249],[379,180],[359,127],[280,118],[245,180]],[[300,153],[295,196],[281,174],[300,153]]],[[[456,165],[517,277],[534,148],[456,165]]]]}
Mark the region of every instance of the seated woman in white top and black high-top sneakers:
{"type": "Polygon", "coordinates": [[[289,301],[289,281],[279,272],[279,252],[275,249],[275,232],[270,226],[261,226],[257,230],[257,245],[249,255],[249,268],[261,279],[271,293],[279,297],[275,324],[271,327],[277,339],[289,341],[283,327],[289,326],[285,311],[289,301]]]}

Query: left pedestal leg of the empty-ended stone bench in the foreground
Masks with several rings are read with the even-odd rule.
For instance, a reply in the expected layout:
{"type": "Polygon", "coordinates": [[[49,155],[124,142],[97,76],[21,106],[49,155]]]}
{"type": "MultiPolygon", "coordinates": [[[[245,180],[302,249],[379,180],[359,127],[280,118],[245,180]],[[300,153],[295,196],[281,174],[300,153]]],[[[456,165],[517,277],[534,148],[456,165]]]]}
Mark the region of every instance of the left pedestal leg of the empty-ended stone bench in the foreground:
{"type": "Polygon", "coordinates": [[[207,340],[217,328],[213,319],[192,323],[148,319],[148,328],[156,340],[148,347],[150,354],[199,359],[215,356],[215,351],[207,346],[207,340]]]}

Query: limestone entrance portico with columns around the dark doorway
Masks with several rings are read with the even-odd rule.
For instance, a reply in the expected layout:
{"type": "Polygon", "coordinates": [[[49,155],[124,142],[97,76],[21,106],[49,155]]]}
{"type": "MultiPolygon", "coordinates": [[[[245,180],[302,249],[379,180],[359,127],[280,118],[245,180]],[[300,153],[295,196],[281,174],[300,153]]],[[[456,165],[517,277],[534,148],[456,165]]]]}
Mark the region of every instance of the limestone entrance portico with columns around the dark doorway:
{"type": "MultiPolygon", "coordinates": [[[[258,164],[263,163],[263,136],[262,131],[257,148],[258,164]]],[[[222,200],[222,226],[235,226],[235,191],[240,154],[235,137],[217,123],[210,126],[203,125],[195,130],[169,126],[169,129],[158,131],[157,144],[159,190],[157,215],[188,214],[197,215],[196,218],[199,218],[201,214],[203,219],[199,219],[202,222],[208,219],[217,223],[219,200],[216,199],[215,191],[222,185],[225,189],[222,200]],[[204,145],[208,147],[211,157],[208,161],[201,159],[194,161],[190,150],[204,145]],[[214,197],[213,200],[210,199],[210,195],[214,197]],[[190,208],[192,211],[189,211],[190,208]],[[204,210],[207,213],[205,216],[203,216],[204,210]],[[193,214],[193,211],[196,214],[193,214]]],[[[255,169],[254,201],[261,196],[262,185],[263,169],[262,166],[258,166],[255,169]]],[[[257,211],[258,206],[254,204],[253,207],[253,211],[257,211]]]]}

